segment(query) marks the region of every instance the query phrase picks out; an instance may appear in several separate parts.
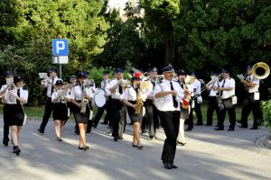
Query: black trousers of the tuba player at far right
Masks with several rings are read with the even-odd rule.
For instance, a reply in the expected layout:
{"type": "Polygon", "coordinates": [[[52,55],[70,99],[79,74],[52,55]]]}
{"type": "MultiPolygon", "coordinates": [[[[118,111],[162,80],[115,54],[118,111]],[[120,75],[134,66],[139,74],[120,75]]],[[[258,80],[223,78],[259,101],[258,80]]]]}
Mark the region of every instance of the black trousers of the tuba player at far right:
{"type": "Polygon", "coordinates": [[[253,113],[254,121],[253,126],[257,128],[258,120],[262,120],[262,110],[260,109],[260,103],[254,100],[254,93],[248,93],[242,107],[241,124],[248,127],[248,115],[253,113]]]}

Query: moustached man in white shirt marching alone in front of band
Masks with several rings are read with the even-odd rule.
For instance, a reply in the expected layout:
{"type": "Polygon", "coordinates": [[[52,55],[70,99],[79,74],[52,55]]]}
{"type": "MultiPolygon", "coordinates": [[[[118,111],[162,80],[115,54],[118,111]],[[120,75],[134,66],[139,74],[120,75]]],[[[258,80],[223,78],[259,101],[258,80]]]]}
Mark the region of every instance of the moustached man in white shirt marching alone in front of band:
{"type": "Polygon", "coordinates": [[[163,164],[166,169],[172,169],[178,167],[173,164],[173,161],[180,125],[180,100],[184,97],[184,94],[181,86],[173,81],[173,66],[168,65],[162,71],[164,81],[159,85],[155,85],[154,103],[159,111],[158,113],[166,136],[162,153],[163,164]]]}

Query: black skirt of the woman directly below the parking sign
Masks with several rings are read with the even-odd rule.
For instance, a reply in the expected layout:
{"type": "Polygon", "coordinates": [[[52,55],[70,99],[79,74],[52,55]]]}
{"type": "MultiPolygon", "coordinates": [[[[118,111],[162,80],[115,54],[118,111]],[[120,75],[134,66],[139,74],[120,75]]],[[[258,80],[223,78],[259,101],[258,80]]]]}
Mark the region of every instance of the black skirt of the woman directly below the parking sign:
{"type": "Polygon", "coordinates": [[[53,103],[53,112],[52,117],[53,121],[61,120],[67,121],[68,120],[68,108],[65,103],[53,103]]]}

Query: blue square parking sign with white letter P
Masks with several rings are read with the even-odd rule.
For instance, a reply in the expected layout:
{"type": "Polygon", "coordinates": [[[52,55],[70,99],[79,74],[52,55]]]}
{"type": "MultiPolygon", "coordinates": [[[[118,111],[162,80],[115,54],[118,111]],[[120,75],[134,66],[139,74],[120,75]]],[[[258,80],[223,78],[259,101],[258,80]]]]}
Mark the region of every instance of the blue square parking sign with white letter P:
{"type": "Polygon", "coordinates": [[[65,39],[53,39],[52,43],[52,55],[53,56],[68,56],[69,46],[68,40],[65,39]]]}

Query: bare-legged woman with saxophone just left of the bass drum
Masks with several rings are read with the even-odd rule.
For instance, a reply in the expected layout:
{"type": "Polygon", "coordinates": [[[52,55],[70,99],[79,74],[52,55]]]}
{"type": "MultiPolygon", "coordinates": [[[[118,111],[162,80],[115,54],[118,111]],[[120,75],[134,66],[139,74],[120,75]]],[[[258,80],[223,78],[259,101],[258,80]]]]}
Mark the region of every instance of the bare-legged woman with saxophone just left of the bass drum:
{"type": "Polygon", "coordinates": [[[83,108],[81,108],[83,101],[91,102],[93,94],[91,90],[88,90],[84,85],[84,80],[87,79],[88,74],[86,72],[80,72],[79,75],[79,85],[74,86],[72,92],[70,94],[70,101],[74,105],[74,116],[76,121],[79,124],[79,149],[88,150],[89,146],[87,146],[86,142],[86,130],[87,124],[89,122],[89,114],[90,114],[90,105],[89,103],[85,103],[86,111],[81,112],[83,108]]]}

